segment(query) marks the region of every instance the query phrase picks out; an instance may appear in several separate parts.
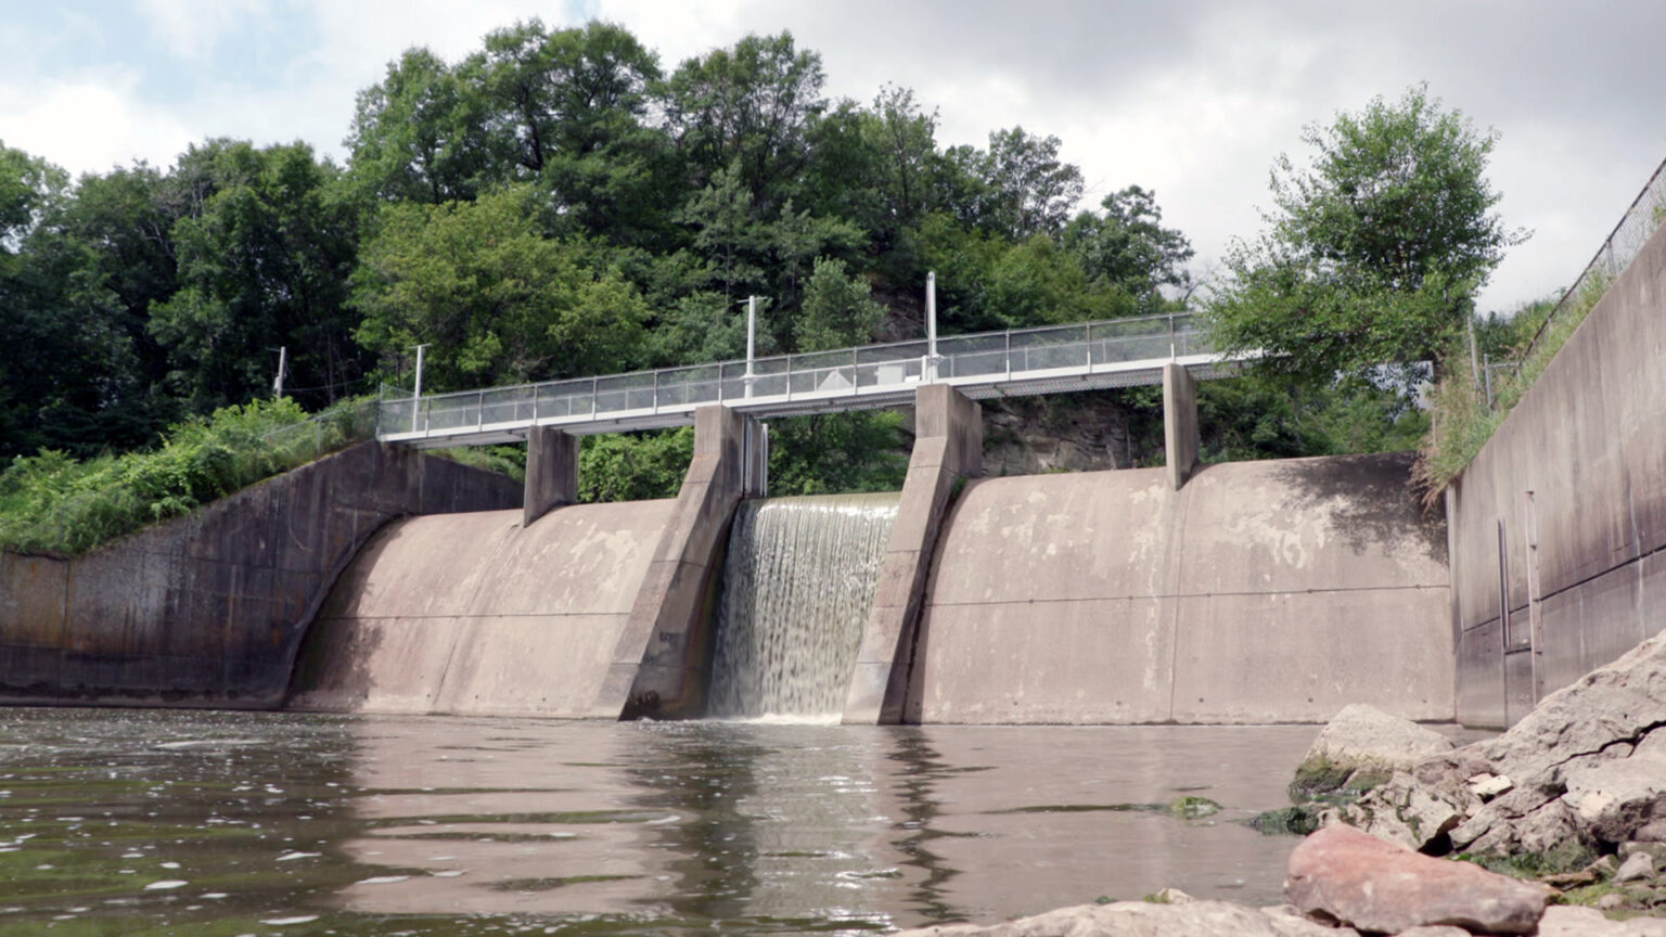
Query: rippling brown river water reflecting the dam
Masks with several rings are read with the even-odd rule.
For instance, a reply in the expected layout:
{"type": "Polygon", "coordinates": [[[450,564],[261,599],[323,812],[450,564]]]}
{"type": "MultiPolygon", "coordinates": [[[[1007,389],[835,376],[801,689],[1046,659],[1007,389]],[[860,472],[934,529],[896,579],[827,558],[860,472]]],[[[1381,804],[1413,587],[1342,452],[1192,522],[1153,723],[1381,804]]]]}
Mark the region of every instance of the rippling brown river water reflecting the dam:
{"type": "Polygon", "coordinates": [[[0,934],[875,932],[1273,902],[1311,727],[0,710],[0,934]],[[1196,789],[1196,790],[1195,790],[1196,789]],[[1206,820],[1130,812],[1198,792],[1206,820]]]}

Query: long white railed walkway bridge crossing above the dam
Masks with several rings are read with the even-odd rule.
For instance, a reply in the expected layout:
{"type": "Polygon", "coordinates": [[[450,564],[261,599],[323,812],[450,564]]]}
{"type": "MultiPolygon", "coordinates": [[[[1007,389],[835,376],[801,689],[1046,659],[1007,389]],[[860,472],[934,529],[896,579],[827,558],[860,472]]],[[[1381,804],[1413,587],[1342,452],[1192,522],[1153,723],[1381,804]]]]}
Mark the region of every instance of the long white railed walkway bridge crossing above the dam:
{"type": "Polygon", "coordinates": [[[1208,378],[1243,357],[1213,353],[1193,313],[1150,315],[390,398],[377,438],[428,448],[520,442],[531,427],[653,430],[710,403],[756,418],[903,407],[928,383],[973,400],[1133,387],[1161,383],[1165,363],[1208,378]]]}

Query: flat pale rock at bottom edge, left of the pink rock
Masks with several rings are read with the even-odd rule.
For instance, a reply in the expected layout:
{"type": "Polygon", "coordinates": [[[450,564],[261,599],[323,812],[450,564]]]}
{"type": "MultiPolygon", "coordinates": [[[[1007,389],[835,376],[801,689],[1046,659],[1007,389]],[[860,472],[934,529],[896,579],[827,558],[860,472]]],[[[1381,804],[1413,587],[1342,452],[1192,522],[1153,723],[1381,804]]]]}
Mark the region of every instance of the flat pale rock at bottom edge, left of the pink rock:
{"type": "Polygon", "coordinates": [[[991,927],[950,924],[903,930],[898,937],[1196,937],[1198,934],[1356,937],[1354,930],[1314,924],[1288,907],[1250,909],[1228,902],[1201,900],[1066,907],[991,927]]]}

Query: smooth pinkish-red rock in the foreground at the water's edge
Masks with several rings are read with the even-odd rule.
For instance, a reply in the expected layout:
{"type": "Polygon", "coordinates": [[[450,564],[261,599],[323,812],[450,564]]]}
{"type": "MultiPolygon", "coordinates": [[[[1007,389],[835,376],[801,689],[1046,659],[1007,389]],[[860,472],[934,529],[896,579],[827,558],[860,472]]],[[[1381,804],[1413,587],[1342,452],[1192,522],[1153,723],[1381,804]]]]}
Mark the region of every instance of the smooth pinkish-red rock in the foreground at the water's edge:
{"type": "Polygon", "coordinates": [[[1361,932],[1456,925],[1533,934],[1544,890],[1468,862],[1433,859],[1353,827],[1324,827],[1289,854],[1289,904],[1361,932]]]}

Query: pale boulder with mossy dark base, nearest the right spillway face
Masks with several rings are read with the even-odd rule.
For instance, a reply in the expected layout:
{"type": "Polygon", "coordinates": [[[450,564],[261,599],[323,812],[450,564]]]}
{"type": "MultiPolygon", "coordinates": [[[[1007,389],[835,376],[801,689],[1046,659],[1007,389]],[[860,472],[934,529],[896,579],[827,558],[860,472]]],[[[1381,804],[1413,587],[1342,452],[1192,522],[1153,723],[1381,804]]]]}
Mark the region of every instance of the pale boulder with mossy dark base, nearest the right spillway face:
{"type": "Polygon", "coordinates": [[[1451,749],[1451,740],[1439,732],[1373,705],[1354,704],[1319,730],[1296,769],[1291,792],[1369,790],[1396,770],[1411,770],[1418,762],[1451,749]]]}

